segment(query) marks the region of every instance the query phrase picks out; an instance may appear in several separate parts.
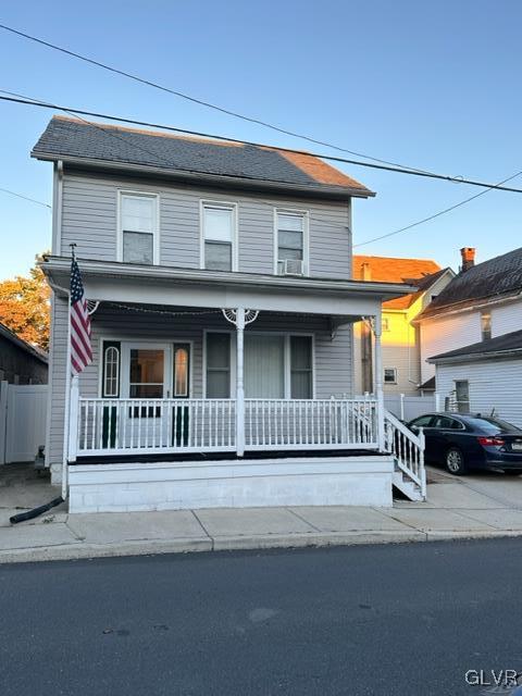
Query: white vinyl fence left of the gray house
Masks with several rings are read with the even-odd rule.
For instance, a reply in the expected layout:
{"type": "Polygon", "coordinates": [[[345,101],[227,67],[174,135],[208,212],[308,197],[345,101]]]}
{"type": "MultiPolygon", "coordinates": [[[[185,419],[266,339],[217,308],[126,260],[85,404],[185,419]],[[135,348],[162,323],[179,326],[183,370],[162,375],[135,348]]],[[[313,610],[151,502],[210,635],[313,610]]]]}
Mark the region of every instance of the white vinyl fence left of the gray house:
{"type": "Polygon", "coordinates": [[[46,444],[47,385],[0,382],[0,464],[33,461],[46,444]]]}

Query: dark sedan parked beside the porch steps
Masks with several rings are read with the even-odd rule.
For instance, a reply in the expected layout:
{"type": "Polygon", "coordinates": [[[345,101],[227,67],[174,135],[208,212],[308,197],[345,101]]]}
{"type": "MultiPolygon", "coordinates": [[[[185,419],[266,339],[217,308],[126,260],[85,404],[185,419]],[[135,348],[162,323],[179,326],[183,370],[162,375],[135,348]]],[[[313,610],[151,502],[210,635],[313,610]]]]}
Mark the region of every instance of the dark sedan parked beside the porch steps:
{"type": "Polygon", "coordinates": [[[480,413],[426,413],[408,427],[424,430],[425,461],[444,463],[452,474],[469,469],[522,474],[522,430],[510,423],[480,413]]]}

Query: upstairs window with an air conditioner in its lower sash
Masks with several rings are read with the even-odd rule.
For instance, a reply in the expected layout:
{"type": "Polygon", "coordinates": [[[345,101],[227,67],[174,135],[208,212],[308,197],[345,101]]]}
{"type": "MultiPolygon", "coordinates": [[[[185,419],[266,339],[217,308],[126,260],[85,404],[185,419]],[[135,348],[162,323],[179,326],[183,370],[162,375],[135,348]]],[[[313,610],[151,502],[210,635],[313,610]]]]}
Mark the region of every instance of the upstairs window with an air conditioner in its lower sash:
{"type": "Polygon", "coordinates": [[[276,273],[306,275],[308,270],[306,212],[275,211],[276,273]]]}

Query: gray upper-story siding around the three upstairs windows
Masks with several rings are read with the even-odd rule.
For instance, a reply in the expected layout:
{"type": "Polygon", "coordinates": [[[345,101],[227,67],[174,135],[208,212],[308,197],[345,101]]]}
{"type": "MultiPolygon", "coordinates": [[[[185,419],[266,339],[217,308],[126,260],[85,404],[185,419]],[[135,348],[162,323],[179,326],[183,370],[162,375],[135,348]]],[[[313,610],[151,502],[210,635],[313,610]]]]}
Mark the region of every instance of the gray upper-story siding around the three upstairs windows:
{"type": "Polygon", "coordinates": [[[224,192],[223,189],[73,172],[66,172],[63,177],[59,253],[69,253],[69,245],[75,243],[79,258],[116,260],[119,190],[159,195],[161,265],[199,268],[200,201],[214,200],[237,203],[239,271],[273,273],[274,209],[289,208],[309,211],[310,274],[332,278],[351,276],[348,201],[224,192]]]}

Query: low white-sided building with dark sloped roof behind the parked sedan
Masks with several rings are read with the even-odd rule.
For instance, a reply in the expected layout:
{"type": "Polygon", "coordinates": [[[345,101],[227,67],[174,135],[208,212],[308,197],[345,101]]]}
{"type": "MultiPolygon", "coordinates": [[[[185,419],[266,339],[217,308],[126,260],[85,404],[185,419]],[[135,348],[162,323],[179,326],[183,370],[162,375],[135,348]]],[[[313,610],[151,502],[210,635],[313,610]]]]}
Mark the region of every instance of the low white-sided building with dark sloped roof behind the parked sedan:
{"type": "Polygon", "coordinates": [[[497,415],[522,427],[522,330],[430,359],[447,410],[497,415]]]}

